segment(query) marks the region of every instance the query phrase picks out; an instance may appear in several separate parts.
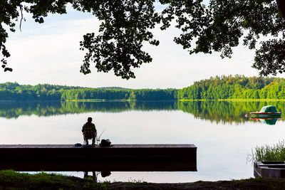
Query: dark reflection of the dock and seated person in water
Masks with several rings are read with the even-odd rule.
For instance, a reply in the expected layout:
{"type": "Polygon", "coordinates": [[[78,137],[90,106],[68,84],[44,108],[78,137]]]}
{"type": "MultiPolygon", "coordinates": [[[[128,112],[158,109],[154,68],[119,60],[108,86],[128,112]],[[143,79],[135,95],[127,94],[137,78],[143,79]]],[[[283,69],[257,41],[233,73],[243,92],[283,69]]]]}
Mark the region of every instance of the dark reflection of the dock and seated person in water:
{"type": "MultiPolygon", "coordinates": [[[[98,181],[98,175],[102,178],[110,176],[111,171],[197,171],[196,164],[186,160],[173,160],[168,162],[10,162],[1,160],[0,170],[13,169],[15,171],[81,171],[84,179],[98,181]],[[91,175],[89,175],[91,174],[91,175]]],[[[71,173],[72,174],[72,173],[71,173]]]]}

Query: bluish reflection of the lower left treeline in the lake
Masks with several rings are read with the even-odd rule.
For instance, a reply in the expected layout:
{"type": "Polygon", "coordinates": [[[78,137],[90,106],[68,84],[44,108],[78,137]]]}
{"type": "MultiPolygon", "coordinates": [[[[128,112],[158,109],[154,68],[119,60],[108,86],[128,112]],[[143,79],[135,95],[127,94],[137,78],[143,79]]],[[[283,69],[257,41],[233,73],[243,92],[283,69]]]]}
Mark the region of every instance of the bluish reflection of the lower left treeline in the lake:
{"type": "Polygon", "coordinates": [[[128,110],[177,110],[177,102],[0,102],[0,117],[39,117],[83,112],[124,112],[128,110]]]}

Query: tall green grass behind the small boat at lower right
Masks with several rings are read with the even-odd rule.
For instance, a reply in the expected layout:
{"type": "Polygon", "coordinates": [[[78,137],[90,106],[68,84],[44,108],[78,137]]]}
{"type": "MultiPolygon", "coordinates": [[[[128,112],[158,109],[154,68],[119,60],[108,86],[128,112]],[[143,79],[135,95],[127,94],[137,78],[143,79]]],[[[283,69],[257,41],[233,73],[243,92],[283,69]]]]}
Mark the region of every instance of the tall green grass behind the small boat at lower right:
{"type": "Polygon", "coordinates": [[[252,162],[257,161],[285,161],[285,144],[284,140],[279,141],[273,146],[265,145],[252,149],[252,154],[249,154],[252,162]]]}

